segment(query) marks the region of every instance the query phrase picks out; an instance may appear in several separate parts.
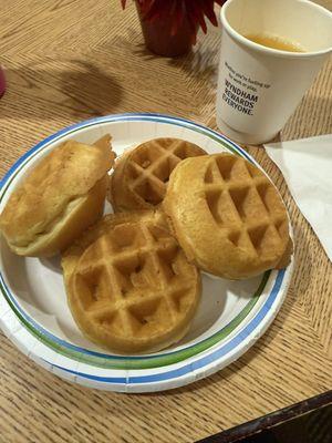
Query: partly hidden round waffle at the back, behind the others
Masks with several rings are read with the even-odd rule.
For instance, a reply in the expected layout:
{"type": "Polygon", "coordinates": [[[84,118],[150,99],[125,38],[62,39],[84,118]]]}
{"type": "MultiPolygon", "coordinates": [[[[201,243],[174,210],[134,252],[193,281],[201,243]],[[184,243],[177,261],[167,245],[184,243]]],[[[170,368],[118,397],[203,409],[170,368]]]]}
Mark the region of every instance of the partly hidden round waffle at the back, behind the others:
{"type": "Polygon", "coordinates": [[[205,155],[190,142],[155,138],[125,153],[111,177],[110,202],[114,210],[153,209],[167,188],[169,175],[184,158],[205,155]]]}

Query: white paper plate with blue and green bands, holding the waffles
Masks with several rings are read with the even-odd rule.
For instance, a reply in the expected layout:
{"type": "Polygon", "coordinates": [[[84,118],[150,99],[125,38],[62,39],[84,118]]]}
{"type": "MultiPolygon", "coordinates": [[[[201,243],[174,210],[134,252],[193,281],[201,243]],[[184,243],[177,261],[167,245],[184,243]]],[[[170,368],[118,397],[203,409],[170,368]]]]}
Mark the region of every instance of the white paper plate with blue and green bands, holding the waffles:
{"type": "MultiPolygon", "coordinates": [[[[117,154],[167,136],[208,153],[229,151],[257,165],[241,147],[193,122],[158,114],[110,115],[68,127],[24,154],[1,182],[0,210],[33,165],[65,140],[92,143],[111,133],[117,154]]],[[[106,207],[110,212],[111,207],[106,207]]],[[[177,388],[210,375],[246,352],[276,317],[292,266],[246,281],[203,276],[203,297],[187,336],[148,356],[107,353],[86,340],[66,305],[60,259],[22,258],[0,239],[0,326],[27,356],[55,374],[87,387],[124,392],[177,388]]]]}

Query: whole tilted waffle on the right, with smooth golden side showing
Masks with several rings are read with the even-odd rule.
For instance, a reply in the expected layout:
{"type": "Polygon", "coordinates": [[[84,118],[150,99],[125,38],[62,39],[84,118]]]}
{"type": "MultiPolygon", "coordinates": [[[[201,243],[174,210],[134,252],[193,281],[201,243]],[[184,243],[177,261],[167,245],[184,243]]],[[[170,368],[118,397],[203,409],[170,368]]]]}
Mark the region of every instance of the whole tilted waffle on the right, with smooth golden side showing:
{"type": "Polygon", "coordinates": [[[188,158],[173,172],[163,207],[189,260],[241,279],[286,266],[286,207],[256,166],[231,154],[188,158]]]}

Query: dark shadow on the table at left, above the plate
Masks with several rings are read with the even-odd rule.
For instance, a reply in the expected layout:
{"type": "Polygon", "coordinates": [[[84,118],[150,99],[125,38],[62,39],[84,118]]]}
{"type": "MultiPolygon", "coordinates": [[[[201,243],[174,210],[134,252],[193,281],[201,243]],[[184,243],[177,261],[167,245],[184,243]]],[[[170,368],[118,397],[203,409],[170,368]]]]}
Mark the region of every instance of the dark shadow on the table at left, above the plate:
{"type": "Polygon", "coordinates": [[[79,60],[66,61],[63,71],[54,60],[10,69],[6,78],[8,87],[0,101],[0,119],[83,120],[114,112],[123,95],[112,72],[79,60]]]}

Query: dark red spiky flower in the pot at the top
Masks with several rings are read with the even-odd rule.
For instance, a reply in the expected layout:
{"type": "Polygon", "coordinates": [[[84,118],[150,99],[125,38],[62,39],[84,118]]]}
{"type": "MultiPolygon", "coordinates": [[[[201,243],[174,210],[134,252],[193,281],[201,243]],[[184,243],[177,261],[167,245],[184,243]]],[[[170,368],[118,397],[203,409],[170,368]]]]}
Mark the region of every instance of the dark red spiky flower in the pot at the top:
{"type": "MultiPolygon", "coordinates": [[[[144,20],[154,21],[163,18],[173,18],[172,34],[174,35],[183,21],[186,19],[191,29],[194,43],[197,30],[200,27],[207,32],[206,18],[215,25],[218,25],[215,3],[222,4],[226,0],[136,0],[144,20]]],[[[125,8],[126,0],[121,0],[125,8]]]]}

